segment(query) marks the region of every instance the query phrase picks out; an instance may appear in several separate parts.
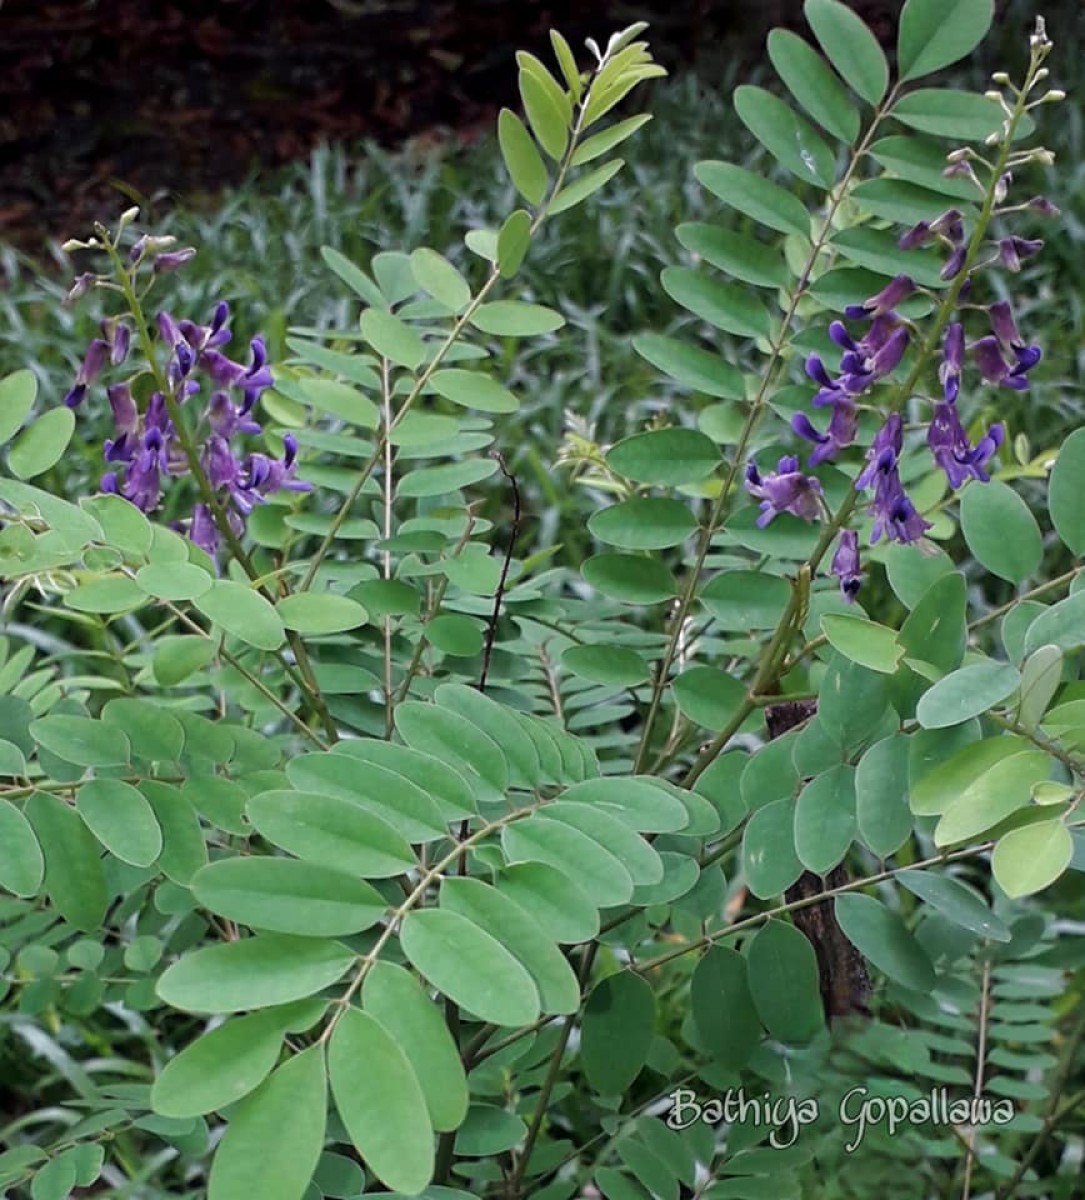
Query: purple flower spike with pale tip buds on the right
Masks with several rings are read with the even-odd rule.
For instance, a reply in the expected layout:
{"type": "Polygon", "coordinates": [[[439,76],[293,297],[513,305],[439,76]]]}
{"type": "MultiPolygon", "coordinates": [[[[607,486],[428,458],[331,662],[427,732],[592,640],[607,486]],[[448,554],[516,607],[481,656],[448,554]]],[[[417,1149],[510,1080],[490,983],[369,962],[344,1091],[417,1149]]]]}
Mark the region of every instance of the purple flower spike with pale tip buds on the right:
{"type": "MultiPolygon", "coordinates": [[[[1045,77],[1047,71],[1036,67],[1049,49],[1050,42],[1047,41],[1042,25],[1038,25],[1037,34],[1032,38],[1032,70],[1026,91],[1045,77]]],[[[1015,97],[1020,95],[1003,73],[1000,72],[994,79],[1009,88],[1015,97]]],[[[988,92],[988,96],[1002,106],[1007,121],[1001,137],[1007,137],[1012,113],[1009,104],[999,91],[988,92]]],[[[1049,91],[1026,108],[1061,98],[1062,92],[1049,91]]],[[[995,134],[993,139],[997,140],[999,137],[995,134]]],[[[946,169],[947,175],[967,178],[981,193],[985,194],[987,187],[977,176],[973,163],[987,168],[989,180],[996,172],[991,163],[971,149],[955,150],[947,158],[949,163],[946,169]]],[[[1026,162],[1051,160],[1050,151],[1043,149],[1011,154],[1007,169],[994,180],[991,215],[1005,216],[1030,211],[1042,216],[1057,216],[1059,210],[1042,196],[1033,197],[1024,204],[1006,204],[1013,181],[1009,168],[1026,162]]],[[[991,252],[987,257],[977,254],[972,262],[965,216],[954,208],[933,221],[921,221],[899,240],[900,248],[905,251],[930,244],[940,245],[947,252],[940,275],[955,288],[959,311],[982,314],[987,326],[981,337],[969,342],[964,322],[958,319],[947,324],[941,336],[939,383],[942,394],[941,398],[931,400],[933,412],[927,426],[927,445],[937,467],[946,473],[949,487],[957,490],[970,479],[988,482],[989,464],[1006,439],[1005,426],[999,422],[993,425],[975,445],[969,440],[958,412],[958,397],[966,361],[971,359],[976,373],[984,383],[1023,391],[1029,386],[1029,372],[1042,356],[1041,348],[1021,336],[1008,301],[1000,300],[985,306],[971,302],[975,281],[984,268],[991,265],[1001,265],[1014,272],[1020,270],[1021,263],[1036,254],[1043,247],[1043,242],[1019,236],[1002,238],[993,244],[991,252]]],[[[829,325],[828,335],[841,350],[837,373],[831,372],[817,354],[811,354],[805,360],[807,374],[819,388],[811,404],[815,409],[829,409],[829,420],[823,431],[817,428],[805,413],[797,413],[792,418],[793,431],[814,445],[808,460],[809,467],[832,462],[841,450],[855,443],[861,408],[869,407],[867,397],[879,383],[892,374],[910,344],[916,341],[915,324],[897,311],[898,306],[924,290],[917,287],[909,275],[901,274],[877,295],[870,296],[862,304],[847,306],[844,310],[847,320],[863,322],[867,328],[862,335],[856,335],[843,320],[834,320],[829,325]]],[[[897,412],[882,415],[883,424],[867,451],[865,466],[856,479],[855,487],[861,492],[873,488],[868,509],[869,516],[874,520],[871,544],[882,535],[891,541],[913,542],[931,526],[916,510],[900,481],[904,421],[897,412]]],[[[765,475],[751,462],[747,468],[745,487],[761,502],[761,515],[757,518],[757,524],[761,527],[768,524],[780,512],[790,512],[813,521],[820,511],[827,511],[820,481],[813,475],[803,474],[796,456],[780,458],[777,470],[765,475]]],[[[840,581],[844,598],[853,600],[861,581],[858,535],[853,530],[841,532],[831,571],[840,581]]]]}

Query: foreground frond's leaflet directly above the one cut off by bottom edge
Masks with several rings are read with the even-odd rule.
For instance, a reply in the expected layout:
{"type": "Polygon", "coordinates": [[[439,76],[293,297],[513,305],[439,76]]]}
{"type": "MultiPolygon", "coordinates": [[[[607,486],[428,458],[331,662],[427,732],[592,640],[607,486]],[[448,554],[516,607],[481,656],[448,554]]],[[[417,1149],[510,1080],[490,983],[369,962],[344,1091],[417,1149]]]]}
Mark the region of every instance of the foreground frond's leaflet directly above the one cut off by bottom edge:
{"type": "Polygon", "coordinates": [[[247,1096],[278,1061],[281,1009],[238,1016],[190,1043],[155,1080],[151,1108],[166,1117],[203,1116],[247,1096]]]}

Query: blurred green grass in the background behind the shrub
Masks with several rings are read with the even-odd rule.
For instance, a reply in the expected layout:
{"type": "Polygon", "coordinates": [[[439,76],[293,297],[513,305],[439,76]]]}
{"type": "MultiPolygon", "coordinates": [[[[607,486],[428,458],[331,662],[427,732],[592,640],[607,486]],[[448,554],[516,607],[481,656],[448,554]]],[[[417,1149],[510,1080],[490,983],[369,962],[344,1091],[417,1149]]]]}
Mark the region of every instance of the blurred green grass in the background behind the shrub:
{"type": "MultiPolygon", "coordinates": [[[[689,258],[675,238],[676,224],[736,218],[695,181],[694,163],[726,158],[766,169],[765,152],[731,112],[736,82],[723,78],[709,90],[687,76],[639,97],[655,119],[625,143],[625,169],[574,214],[547,223],[506,292],[551,304],[568,322],[556,335],[497,347],[497,370],[523,402],[520,416],[500,430],[498,444],[514,448],[514,469],[527,484],[529,509],[540,515],[534,548],[545,546],[547,538],[551,544],[567,535],[567,545],[568,539],[583,541],[577,528],[582,505],[570,502],[569,490],[555,478],[567,410],[594,427],[606,444],[657,414],[688,420],[708,403],[641,360],[631,338],[648,329],[697,336],[696,323],[659,286],[659,271],[689,258]],[[551,511],[555,505],[561,514],[551,511]],[[574,517],[571,526],[567,517],[574,517]]],[[[981,78],[966,82],[982,86],[981,78]]],[[[1069,102],[1042,110],[1041,120],[1059,166],[1030,168],[1030,180],[1042,176],[1037,190],[1060,200],[1065,214],[1043,230],[1044,253],[1006,282],[1013,288],[1019,323],[1026,336],[1044,344],[1045,361],[1029,394],[988,392],[982,414],[1007,420],[1011,433],[1024,433],[1033,452],[1057,445],[1081,424],[1085,410],[1085,312],[1078,288],[1085,268],[1083,109],[1069,102]]],[[[786,176],[783,181],[793,186],[786,176]]],[[[118,209],[126,203],[119,198],[118,209]]],[[[499,224],[515,206],[493,138],[426,154],[410,146],[398,154],[370,144],[320,146],[307,162],[251,176],[214,210],[145,212],[156,232],[199,248],[193,263],[163,280],[155,302],[205,319],[224,298],[234,310],[238,343],[260,331],[275,361],[287,353],[289,325],[348,329],[356,319],[358,301],[324,266],[322,246],[334,246],[365,266],[377,251],[425,244],[479,278],[480,265],[463,247],[463,234],[499,224]]],[[[64,236],[84,233],[64,230],[64,236]]],[[[95,331],[95,296],[76,310],[60,304],[76,271],[59,250],[32,262],[0,248],[0,281],[6,282],[0,322],[8,335],[0,343],[0,373],[31,367],[40,376],[44,404],[65,394],[95,331]]],[[[712,335],[702,344],[741,362],[744,347],[727,338],[721,347],[720,341],[712,335]]],[[[97,416],[80,414],[84,462],[80,467],[71,457],[65,461],[65,491],[84,486],[101,469],[97,445],[107,432],[101,407],[97,416]]]]}

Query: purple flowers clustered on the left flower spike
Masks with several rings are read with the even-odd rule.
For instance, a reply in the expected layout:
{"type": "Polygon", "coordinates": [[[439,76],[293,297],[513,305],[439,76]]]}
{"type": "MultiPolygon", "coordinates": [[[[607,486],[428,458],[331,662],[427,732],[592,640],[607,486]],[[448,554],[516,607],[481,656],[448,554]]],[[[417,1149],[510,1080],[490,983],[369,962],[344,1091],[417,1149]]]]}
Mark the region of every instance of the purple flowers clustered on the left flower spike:
{"type": "MultiPolygon", "coordinates": [[[[167,263],[158,269],[169,270],[167,263]]],[[[209,385],[206,407],[199,419],[202,449],[199,463],[212,492],[216,494],[230,528],[238,535],[244,518],[256,504],[283,488],[308,491],[311,484],[294,479],[298,442],[292,434],[283,438],[281,460],[264,454],[239,457],[230,440],[239,433],[259,433],[260,426],[252,416],[260,394],[272,384],[264,341],[254,337],[250,343],[248,364],[235,362],[222,353],[230,341],[227,328],[229,306],[222,301],[215,307],[211,322],[199,325],[192,320],[176,322],[169,313],[157,318],[157,330],[167,347],[164,368],[167,392],[155,390],[140,413],[132,390],[134,379],[114,383],[106,389],[113,409],[115,436],[104,444],[104,457],[115,468],[102,476],[101,490],[122,496],[144,512],[154,511],[162,500],[163,478],[188,474],[188,458],[170,419],[167,395],[176,406],[209,385]]],[[[131,335],[128,326],[116,319],[102,322],[102,337],[91,342],[76,383],[65,403],[77,407],[88,389],[101,376],[107,361],[125,361],[131,335]]],[[[208,504],[194,506],[188,523],[188,536],[214,556],[218,548],[218,529],[208,504]]]]}

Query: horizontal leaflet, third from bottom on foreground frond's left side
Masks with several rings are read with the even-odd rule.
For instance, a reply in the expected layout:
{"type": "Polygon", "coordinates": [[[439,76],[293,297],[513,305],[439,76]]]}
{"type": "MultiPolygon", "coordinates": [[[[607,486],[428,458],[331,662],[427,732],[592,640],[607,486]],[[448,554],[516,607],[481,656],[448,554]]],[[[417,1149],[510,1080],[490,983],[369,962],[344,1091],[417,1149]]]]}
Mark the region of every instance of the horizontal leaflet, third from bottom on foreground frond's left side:
{"type": "Polygon", "coordinates": [[[338,942],[286,934],[257,934],[205,946],[167,967],[158,997],[186,1013],[238,1013],[304,1000],[354,966],[338,942]]]}

